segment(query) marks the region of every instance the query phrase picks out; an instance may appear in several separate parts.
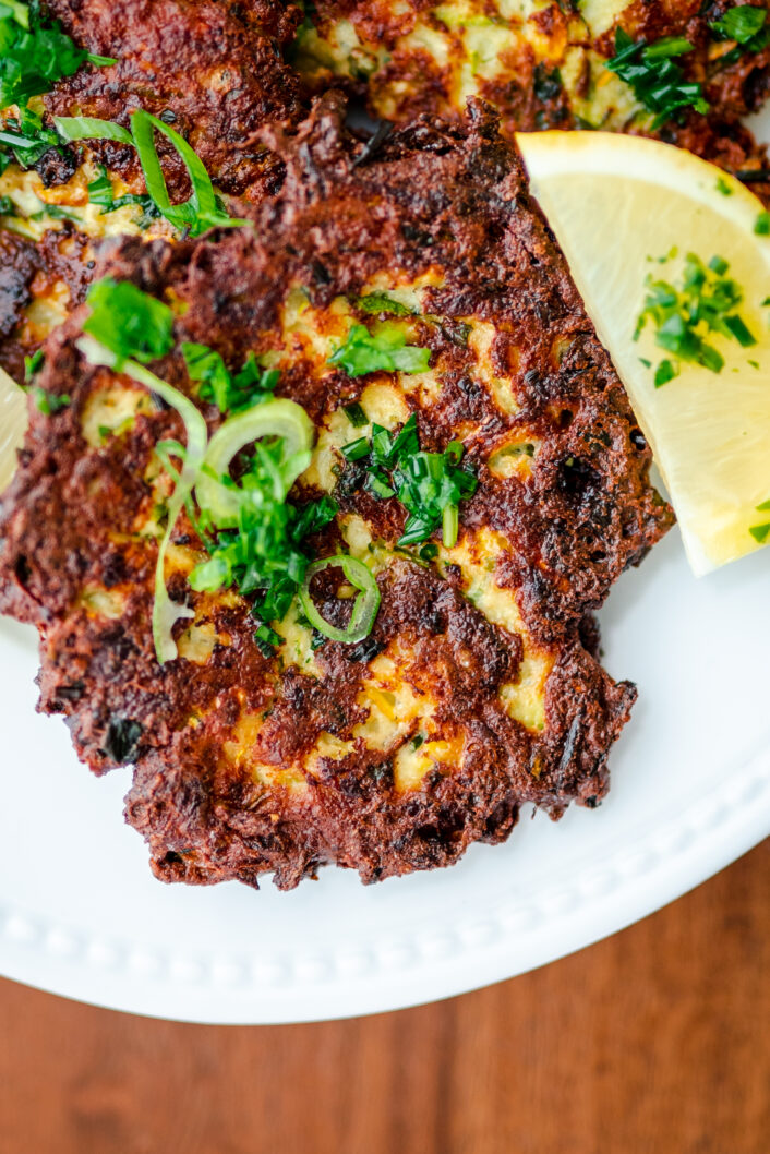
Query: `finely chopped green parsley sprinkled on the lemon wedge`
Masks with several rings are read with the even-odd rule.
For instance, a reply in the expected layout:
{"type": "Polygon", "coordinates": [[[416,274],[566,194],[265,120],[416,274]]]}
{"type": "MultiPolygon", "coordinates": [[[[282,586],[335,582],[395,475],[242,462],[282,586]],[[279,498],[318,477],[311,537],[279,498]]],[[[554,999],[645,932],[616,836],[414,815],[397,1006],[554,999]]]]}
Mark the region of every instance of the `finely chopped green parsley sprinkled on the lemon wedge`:
{"type": "Polygon", "coordinates": [[[725,360],[709,342],[711,335],[737,340],[742,349],[756,344],[738,309],[743,301],[740,285],[726,273],[730,265],[713,256],[705,265],[689,253],[685,260],[681,284],[646,278],[646,297],[640,314],[634,339],[648,321],[656,330],[656,344],[678,360],[661,361],[656,369],[655,384],[659,388],[679,373],[678,361],[702,365],[712,373],[720,373],[725,360]]]}

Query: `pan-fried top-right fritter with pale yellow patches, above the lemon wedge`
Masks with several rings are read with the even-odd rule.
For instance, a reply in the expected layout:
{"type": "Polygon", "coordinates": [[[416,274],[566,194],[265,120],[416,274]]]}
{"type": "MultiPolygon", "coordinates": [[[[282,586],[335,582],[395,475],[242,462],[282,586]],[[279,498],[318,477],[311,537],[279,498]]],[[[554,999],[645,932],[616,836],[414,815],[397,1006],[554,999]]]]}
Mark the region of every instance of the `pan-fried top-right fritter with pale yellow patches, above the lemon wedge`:
{"type": "MultiPolygon", "coordinates": [[[[655,135],[756,174],[768,167],[765,150],[739,118],[767,99],[770,47],[739,50],[732,60],[735,45],[710,28],[731,7],[732,0],[316,0],[293,59],[311,88],[342,83],[364,96],[374,115],[397,123],[421,112],[456,114],[469,96],[480,96],[500,111],[504,134],[648,133],[652,115],[606,69],[615,28],[648,43],[685,37],[694,51],[678,62],[703,84],[712,112],[690,111],[655,135]]],[[[770,196],[770,183],[754,187],[770,196]]]]}

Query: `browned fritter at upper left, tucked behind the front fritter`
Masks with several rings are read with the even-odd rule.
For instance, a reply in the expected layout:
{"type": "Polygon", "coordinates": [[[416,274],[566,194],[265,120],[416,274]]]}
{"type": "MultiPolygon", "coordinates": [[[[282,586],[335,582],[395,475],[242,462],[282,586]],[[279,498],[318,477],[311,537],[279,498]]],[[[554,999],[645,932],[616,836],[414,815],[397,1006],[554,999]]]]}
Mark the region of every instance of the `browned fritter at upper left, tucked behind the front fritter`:
{"type": "MultiPolygon", "coordinates": [[[[35,98],[36,111],[126,127],[130,112],[142,107],[188,140],[222,192],[259,200],[279,183],[279,162],[255,133],[271,118],[291,120],[301,112],[299,77],[282,60],[299,20],[292,5],[50,0],[46,8],[79,48],[117,63],[84,63],[35,98]]],[[[6,110],[0,119],[15,114],[6,110]]],[[[172,197],[185,198],[190,189],[179,153],[160,136],[157,149],[172,197]]],[[[145,192],[135,149],[114,142],[52,148],[29,171],[14,163],[0,174],[0,196],[18,213],[6,217],[17,230],[13,237],[0,231],[13,287],[2,299],[0,366],[18,381],[24,355],[82,300],[100,240],[140,231],[147,239],[172,235],[163,220],[142,220],[137,208],[103,213],[89,203],[99,164],[115,198],[145,192]]]]}

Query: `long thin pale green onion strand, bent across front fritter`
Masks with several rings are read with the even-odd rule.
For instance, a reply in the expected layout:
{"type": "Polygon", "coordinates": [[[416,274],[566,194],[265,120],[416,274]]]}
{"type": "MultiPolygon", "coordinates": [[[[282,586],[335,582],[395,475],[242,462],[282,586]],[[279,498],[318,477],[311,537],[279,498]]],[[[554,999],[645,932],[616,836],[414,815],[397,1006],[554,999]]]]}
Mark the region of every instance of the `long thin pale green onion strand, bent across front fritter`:
{"type": "Polygon", "coordinates": [[[174,624],[180,617],[195,616],[193,609],[188,609],[185,605],[178,605],[177,601],[172,601],[169,597],[165,577],[165,561],[174,525],[177,524],[179,514],[181,512],[186,500],[193,490],[195,479],[199,474],[201,465],[203,464],[203,458],[205,457],[208,428],[202,414],[197,411],[192,400],[185,397],[184,394],[179,392],[178,389],[166,384],[166,382],[162,381],[159,376],[155,375],[155,373],[150,373],[150,370],[144,368],[143,365],[140,365],[134,360],[124,360],[98,340],[94,340],[92,337],[81,337],[77,342],[77,347],[89,364],[104,365],[105,368],[111,368],[117,373],[125,373],[126,376],[132,377],[132,380],[136,381],[137,384],[143,384],[147,389],[150,389],[151,392],[157,392],[157,395],[165,400],[167,405],[171,405],[172,409],[177,410],[185,422],[185,429],[187,432],[187,448],[182,471],[179,477],[179,481],[174,486],[171,501],[169,502],[169,524],[165,533],[163,534],[163,540],[160,541],[158,560],[155,568],[152,639],[155,642],[157,659],[160,665],[165,665],[166,661],[173,661],[179,657],[179,650],[177,649],[177,643],[172,636],[174,624]]]}

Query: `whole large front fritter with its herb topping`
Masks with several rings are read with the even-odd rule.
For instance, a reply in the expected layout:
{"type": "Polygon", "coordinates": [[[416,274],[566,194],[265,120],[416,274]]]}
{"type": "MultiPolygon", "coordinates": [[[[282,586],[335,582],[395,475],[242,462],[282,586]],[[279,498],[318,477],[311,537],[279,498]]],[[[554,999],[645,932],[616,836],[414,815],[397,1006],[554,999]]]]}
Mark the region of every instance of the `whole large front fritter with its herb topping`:
{"type": "Polygon", "coordinates": [[[97,772],[135,764],[169,881],[451,863],[524,802],[596,805],[635,696],[588,614],[671,512],[518,155],[478,104],[379,152],[342,118],[327,98],[271,133],[286,175],[252,228],[122,242],[45,346],[2,503],[0,607],[40,630],[43,709],[97,772]],[[159,395],[81,342],[136,291],[132,339],[169,321],[159,395]],[[209,478],[259,524],[170,518],[201,418],[210,451],[290,402],[313,450],[285,499],[266,441],[209,478]]]}

